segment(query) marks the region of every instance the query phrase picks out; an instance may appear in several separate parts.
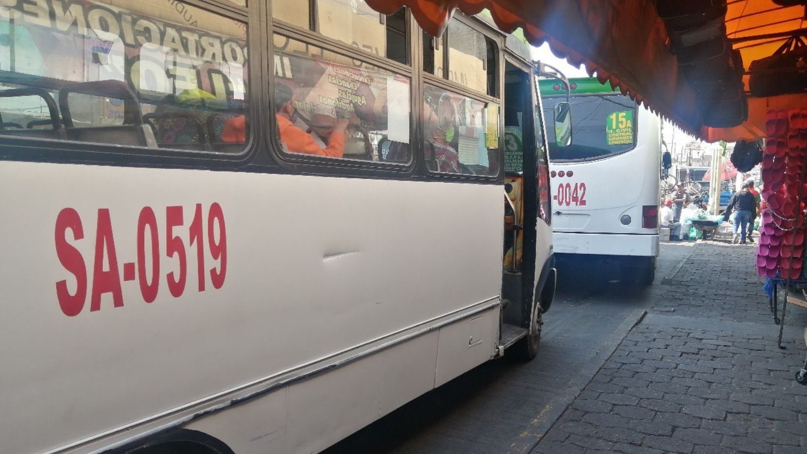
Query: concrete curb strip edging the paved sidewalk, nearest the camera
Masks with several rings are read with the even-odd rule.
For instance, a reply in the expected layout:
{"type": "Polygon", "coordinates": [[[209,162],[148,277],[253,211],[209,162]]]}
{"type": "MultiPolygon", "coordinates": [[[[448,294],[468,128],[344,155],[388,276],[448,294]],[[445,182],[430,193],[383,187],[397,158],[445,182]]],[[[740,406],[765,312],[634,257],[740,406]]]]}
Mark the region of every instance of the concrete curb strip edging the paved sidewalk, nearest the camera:
{"type": "Polygon", "coordinates": [[[619,327],[613,332],[613,335],[608,337],[602,344],[600,353],[596,356],[597,361],[586,364],[583,368],[580,368],[577,375],[572,378],[567,385],[569,392],[553,398],[547,403],[544,410],[541,411],[541,414],[533,420],[533,433],[530,434],[535,437],[533,443],[526,446],[513,446],[508,450],[508,454],[516,452],[529,453],[535,449],[537,444],[541,442],[541,439],[544,438],[544,435],[550,431],[554,423],[558,421],[563,412],[571,405],[571,402],[575,402],[575,399],[583,392],[583,389],[591,383],[596,373],[599,372],[603,365],[613,356],[613,352],[617,351],[617,347],[625,340],[625,337],[633,330],[633,327],[642,323],[646,315],[646,310],[633,310],[633,313],[626,317],[625,321],[620,323],[619,327]]]}

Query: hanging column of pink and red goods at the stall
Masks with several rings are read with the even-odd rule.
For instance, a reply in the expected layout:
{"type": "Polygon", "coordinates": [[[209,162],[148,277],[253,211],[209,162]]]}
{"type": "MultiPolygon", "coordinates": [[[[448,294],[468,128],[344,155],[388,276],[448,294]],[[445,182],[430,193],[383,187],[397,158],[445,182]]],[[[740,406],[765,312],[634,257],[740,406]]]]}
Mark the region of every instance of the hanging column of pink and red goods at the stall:
{"type": "Polygon", "coordinates": [[[757,271],[760,276],[801,279],[805,257],[803,202],[807,110],[769,110],[762,161],[757,271]]]}

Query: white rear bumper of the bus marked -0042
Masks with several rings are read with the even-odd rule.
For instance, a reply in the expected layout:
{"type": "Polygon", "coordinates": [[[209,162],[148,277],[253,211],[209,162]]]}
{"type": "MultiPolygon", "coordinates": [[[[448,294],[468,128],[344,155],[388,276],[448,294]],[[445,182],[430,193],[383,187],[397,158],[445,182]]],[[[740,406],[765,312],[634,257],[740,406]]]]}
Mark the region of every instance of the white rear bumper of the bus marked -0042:
{"type": "Polygon", "coordinates": [[[560,254],[659,256],[659,235],[554,232],[552,244],[560,254]]]}

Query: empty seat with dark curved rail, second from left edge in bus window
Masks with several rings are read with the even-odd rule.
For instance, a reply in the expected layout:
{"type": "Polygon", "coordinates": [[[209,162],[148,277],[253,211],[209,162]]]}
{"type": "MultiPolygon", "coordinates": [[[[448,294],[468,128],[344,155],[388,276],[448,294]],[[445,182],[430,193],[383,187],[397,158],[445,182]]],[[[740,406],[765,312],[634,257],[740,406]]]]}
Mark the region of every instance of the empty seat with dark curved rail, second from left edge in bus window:
{"type": "Polygon", "coordinates": [[[68,140],[157,148],[157,139],[151,127],[144,123],[140,102],[124,81],[89,81],[65,85],[59,90],[59,106],[68,140]],[[69,94],[72,93],[122,100],[123,125],[75,127],[69,105],[69,94]]]}

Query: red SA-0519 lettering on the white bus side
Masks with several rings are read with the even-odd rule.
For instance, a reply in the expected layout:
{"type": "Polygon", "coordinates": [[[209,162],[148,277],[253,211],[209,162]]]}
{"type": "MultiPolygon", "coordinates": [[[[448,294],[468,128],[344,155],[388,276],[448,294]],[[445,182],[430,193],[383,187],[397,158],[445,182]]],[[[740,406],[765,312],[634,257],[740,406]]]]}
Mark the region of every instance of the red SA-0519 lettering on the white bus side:
{"type": "Polygon", "coordinates": [[[182,206],[165,207],[165,244],[160,242],[160,228],[157,216],[150,206],[140,210],[136,229],[136,261],[120,264],[115,249],[115,235],[112,230],[111,214],[108,208],[100,208],[97,212],[92,286],[88,283],[88,269],[85,257],[74,244],[85,240],[82,217],[77,210],[65,208],[56,216],[54,244],[56,256],[62,267],[76,281],[73,293],[69,290],[68,279],[56,282],[56,299],[61,311],[74,317],[81,314],[86,306],[87,294],[90,294],[90,312],[101,310],[101,297],[111,294],[115,307],[123,307],[123,282],[137,281],[140,295],[144,302],[157,300],[163,279],[161,270],[161,247],[165,247],[165,256],[174,260],[178,271],[165,274],[165,285],[169,294],[179,298],[185,292],[187,272],[187,251],[185,245],[195,246],[197,258],[197,289],[206,289],[209,273],[211,285],[220,289],[224,285],[227,274],[227,229],[224,225],[224,210],[214,202],[207,209],[205,216],[203,206],[197,203],[194,217],[187,229],[182,228],[182,206]],[[207,217],[207,222],[205,222],[207,217]],[[205,232],[207,230],[207,232],[205,232]],[[216,235],[218,231],[218,235],[216,235]],[[147,235],[148,234],[148,235],[147,235]],[[207,234],[207,235],[206,235],[207,234]],[[187,235],[187,236],[186,236],[187,235]],[[188,241],[183,240],[188,238],[188,241]],[[206,241],[207,240],[207,241],[206,241]],[[205,267],[206,246],[215,265],[205,267]],[[107,269],[104,268],[104,262],[107,269]],[[121,273],[123,269],[123,273],[121,273]]]}

